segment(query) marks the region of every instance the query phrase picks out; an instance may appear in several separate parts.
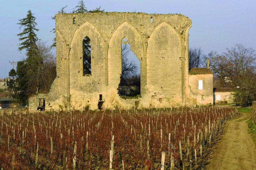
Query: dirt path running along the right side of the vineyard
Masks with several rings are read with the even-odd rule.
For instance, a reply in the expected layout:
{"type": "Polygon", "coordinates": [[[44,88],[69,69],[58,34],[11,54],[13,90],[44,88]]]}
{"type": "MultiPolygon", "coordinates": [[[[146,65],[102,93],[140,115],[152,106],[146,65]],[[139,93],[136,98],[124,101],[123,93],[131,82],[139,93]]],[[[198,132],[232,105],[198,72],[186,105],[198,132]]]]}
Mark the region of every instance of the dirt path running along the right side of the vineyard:
{"type": "Polygon", "coordinates": [[[226,123],[221,139],[211,150],[205,169],[256,170],[256,150],[247,131],[248,119],[248,115],[241,114],[239,118],[226,123]]]}

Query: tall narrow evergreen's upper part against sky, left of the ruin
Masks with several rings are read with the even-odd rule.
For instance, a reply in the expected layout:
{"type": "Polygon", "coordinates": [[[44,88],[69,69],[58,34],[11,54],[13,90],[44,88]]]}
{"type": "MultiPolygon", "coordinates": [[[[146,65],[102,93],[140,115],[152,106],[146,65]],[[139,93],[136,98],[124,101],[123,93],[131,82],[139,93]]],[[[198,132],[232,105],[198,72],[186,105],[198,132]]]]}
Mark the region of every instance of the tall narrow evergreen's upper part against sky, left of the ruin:
{"type": "Polygon", "coordinates": [[[20,25],[20,28],[24,27],[23,31],[20,34],[17,34],[20,37],[19,40],[23,41],[19,44],[20,47],[18,49],[19,51],[26,49],[28,57],[32,55],[32,50],[38,40],[35,31],[39,31],[39,29],[36,28],[36,17],[33,15],[31,10],[28,10],[27,17],[19,19],[20,22],[17,23],[20,25]]]}

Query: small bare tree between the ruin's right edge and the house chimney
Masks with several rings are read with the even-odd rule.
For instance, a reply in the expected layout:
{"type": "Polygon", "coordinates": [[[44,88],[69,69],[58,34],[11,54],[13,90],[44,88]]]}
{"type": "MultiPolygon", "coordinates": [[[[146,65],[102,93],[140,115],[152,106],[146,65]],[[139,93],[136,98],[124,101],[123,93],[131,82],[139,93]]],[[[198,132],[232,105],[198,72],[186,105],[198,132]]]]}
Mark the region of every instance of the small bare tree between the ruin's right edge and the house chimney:
{"type": "Polygon", "coordinates": [[[189,48],[189,70],[201,67],[203,58],[204,54],[201,47],[189,48]]]}

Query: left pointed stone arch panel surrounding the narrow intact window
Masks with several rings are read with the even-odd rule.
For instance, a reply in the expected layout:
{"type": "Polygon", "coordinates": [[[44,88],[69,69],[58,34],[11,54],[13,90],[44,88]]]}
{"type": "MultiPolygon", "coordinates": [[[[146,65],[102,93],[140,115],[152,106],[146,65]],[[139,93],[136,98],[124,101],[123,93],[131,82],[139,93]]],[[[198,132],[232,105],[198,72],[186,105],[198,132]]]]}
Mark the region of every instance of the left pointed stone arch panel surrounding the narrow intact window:
{"type": "MultiPolygon", "coordinates": [[[[69,64],[70,87],[83,89],[92,86],[92,80],[105,82],[105,41],[99,30],[90,22],[84,22],[73,34],[70,42],[69,64]],[[89,37],[91,42],[91,76],[83,76],[83,39],[89,37]]],[[[98,84],[98,83],[97,83],[98,84]]],[[[88,90],[87,90],[88,92],[88,90]]]]}

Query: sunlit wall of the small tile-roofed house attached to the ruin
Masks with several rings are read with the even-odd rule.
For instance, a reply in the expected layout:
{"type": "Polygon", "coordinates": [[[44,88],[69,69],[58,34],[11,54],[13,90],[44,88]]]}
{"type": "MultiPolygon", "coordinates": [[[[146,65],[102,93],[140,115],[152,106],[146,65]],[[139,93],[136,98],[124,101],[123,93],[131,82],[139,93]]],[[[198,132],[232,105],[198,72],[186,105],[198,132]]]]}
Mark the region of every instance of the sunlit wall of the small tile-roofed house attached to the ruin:
{"type": "Polygon", "coordinates": [[[197,105],[213,104],[213,74],[189,74],[189,88],[197,105]],[[203,89],[198,89],[198,80],[203,80],[203,89]],[[204,101],[202,95],[204,95],[204,101]]]}

